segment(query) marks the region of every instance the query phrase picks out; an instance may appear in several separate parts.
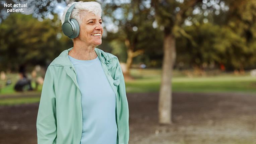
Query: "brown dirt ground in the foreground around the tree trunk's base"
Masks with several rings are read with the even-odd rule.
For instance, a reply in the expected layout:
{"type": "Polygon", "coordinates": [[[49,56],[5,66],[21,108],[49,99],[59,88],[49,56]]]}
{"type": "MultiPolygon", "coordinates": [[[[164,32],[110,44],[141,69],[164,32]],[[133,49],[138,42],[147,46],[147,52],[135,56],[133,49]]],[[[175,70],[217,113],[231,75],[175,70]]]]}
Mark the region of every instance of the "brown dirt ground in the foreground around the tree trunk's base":
{"type": "MultiPolygon", "coordinates": [[[[158,93],[127,94],[129,144],[255,144],[256,95],[174,93],[173,124],[157,124],[158,93]]],[[[38,103],[0,107],[0,144],[36,144],[38,103]]]]}

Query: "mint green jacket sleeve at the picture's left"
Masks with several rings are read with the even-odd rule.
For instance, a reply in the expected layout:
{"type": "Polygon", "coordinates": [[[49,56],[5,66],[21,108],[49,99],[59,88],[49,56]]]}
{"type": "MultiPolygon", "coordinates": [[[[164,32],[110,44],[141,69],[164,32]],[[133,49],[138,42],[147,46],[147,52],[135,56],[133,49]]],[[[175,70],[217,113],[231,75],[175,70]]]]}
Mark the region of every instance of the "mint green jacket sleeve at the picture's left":
{"type": "Polygon", "coordinates": [[[48,67],[43,84],[38,116],[38,144],[56,144],[56,103],[53,76],[48,67]]]}

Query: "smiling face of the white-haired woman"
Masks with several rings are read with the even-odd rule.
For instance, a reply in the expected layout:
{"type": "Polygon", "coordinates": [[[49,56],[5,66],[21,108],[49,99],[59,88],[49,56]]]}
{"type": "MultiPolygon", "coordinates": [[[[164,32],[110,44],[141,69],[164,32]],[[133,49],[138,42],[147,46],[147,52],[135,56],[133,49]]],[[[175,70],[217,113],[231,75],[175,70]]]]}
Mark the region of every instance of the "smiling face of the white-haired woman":
{"type": "Polygon", "coordinates": [[[80,33],[77,38],[84,41],[87,46],[99,46],[102,43],[102,19],[100,16],[86,13],[82,18],[80,33]]]}

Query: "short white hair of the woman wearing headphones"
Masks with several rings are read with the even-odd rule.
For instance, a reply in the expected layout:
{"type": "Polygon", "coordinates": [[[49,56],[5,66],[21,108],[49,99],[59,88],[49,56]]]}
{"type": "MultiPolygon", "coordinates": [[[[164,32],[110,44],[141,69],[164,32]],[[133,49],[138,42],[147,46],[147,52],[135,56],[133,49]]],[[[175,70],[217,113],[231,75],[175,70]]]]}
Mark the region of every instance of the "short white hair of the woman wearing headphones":
{"type": "Polygon", "coordinates": [[[70,18],[74,18],[79,25],[81,25],[82,23],[82,18],[83,16],[85,16],[85,14],[95,14],[95,15],[99,15],[101,16],[101,13],[102,13],[102,9],[101,9],[101,4],[99,4],[98,2],[82,2],[82,1],[79,1],[79,2],[72,2],[70,4],[67,5],[67,7],[64,9],[64,12],[63,12],[63,15],[62,15],[62,18],[61,18],[61,23],[63,24],[64,21],[65,21],[65,15],[68,11],[68,8],[75,4],[75,8],[73,9],[73,11],[71,12],[71,16],[70,18]]]}

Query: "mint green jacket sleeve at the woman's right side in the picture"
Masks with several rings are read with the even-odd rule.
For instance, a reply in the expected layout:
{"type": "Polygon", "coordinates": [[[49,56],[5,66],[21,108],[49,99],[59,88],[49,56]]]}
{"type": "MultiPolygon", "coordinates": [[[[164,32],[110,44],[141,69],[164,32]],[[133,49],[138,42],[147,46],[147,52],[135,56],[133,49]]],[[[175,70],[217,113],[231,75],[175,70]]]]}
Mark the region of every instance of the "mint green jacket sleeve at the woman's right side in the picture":
{"type": "Polygon", "coordinates": [[[117,62],[117,70],[115,74],[115,79],[118,79],[120,81],[117,92],[119,94],[119,100],[120,105],[117,105],[119,107],[119,117],[117,118],[119,121],[118,126],[120,127],[118,132],[118,139],[119,144],[128,144],[129,142],[129,109],[128,109],[128,101],[126,97],[126,90],[125,90],[125,82],[124,82],[124,76],[123,72],[120,66],[119,61],[117,62]]]}

